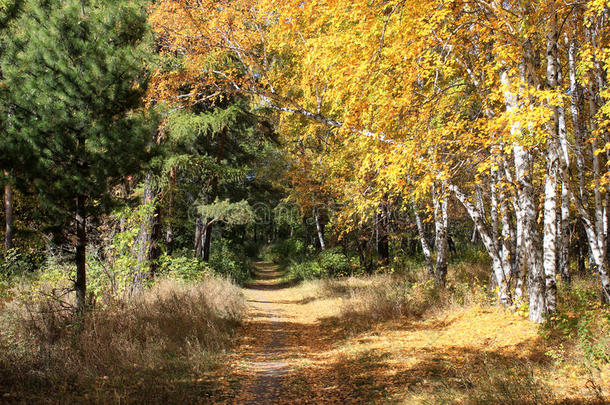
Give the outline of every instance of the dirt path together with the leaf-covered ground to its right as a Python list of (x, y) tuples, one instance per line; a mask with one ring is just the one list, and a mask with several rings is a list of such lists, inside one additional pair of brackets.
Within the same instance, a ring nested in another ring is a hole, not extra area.
[(226, 370), (238, 388), (225, 402), (583, 404), (610, 392), (609, 369), (553, 365), (537, 326), (519, 314), (473, 305), (357, 324), (341, 310), (346, 290), (256, 268)]

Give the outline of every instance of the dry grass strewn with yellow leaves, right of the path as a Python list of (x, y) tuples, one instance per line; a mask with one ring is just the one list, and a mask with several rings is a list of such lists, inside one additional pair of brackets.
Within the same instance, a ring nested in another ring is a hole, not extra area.
[[(554, 328), (574, 333), (555, 331), (548, 339), (522, 312), (494, 305), (494, 293), (478, 281), (485, 280), (483, 270), (454, 266), (446, 291), (417, 274), (301, 284), (295, 293), (303, 298), (295, 302), (307, 307), (301, 312), (317, 313), (320, 331), (332, 336), (312, 346), (335, 343), (303, 362), (291, 399), (306, 391), (320, 402), (334, 396), (346, 403), (607, 403), (610, 364), (591, 366), (582, 353), (603, 352), (608, 342), (595, 294), (579, 293), (595, 285), (575, 280), (570, 290), (560, 289), (563, 323)], [(590, 323), (583, 323), (585, 314)]]

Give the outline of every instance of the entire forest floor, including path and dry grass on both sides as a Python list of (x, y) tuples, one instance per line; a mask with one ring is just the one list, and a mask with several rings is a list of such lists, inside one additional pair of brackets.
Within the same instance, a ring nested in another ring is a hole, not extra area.
[[(48, 327), (63, 325), (56, 311), (36, 323), (11, 303), (0, 317), (0, 404), (610, 403), (610, 361), (583, 356), (607, 348), (549, 336), (467, 287), (388, 274), (297, 283), (259, 262), (243, 288), (165, 280), (59, 335)], [(16, 340), (15, 319), (38, 340)]]

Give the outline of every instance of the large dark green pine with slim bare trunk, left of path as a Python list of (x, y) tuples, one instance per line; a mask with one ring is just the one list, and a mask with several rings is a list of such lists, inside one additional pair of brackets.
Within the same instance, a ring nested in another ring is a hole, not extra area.
[[(150, 42), (145, 8), (121, 0), (31, 0), (2, 60), (12, 156), (75, 248), (76, 307), (86, 303), (87, 222), (116, 202), (111, 190), (139, 170), (154, 128), (143, 95)], [(72, 229), (72, 232), (66, 232)], [(75, 237), (74, 237), (75, 236)]]

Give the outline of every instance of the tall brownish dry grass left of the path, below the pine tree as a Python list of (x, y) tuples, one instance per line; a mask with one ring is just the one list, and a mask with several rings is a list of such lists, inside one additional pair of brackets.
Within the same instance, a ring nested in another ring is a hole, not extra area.
[(162, 403), (214, 389), (245, 301), (227, 280), (163, 280), (74, 318), (48, 296), (15, 299), (0, 322), (0, 395), (15, 402)]

